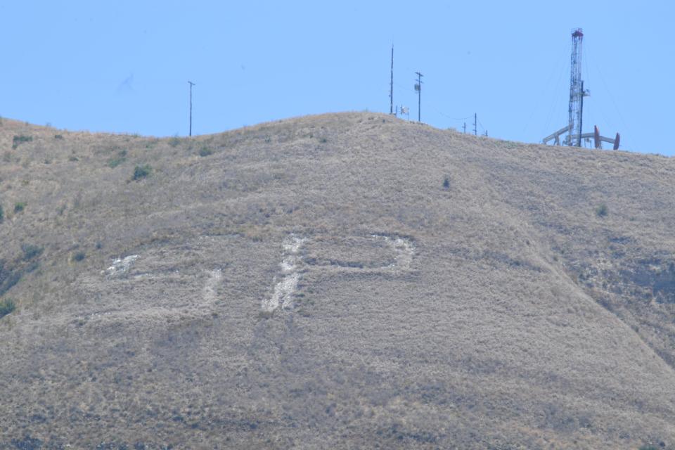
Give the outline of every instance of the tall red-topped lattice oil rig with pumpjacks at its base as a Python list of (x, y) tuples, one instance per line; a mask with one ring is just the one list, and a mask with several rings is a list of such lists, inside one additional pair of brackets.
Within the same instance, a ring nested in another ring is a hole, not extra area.
[(581, 43), (584, 40), (584, 32), (581, 28), (572, 30), (572, 58), (570, 60), (570, 122), (567, 127), (561, 128), (555, 133), (546, 136), (544, 143), (553, 141), (556, 146), (560, 145), (560, 136), (567, 133), (563, 145), (581, 147), (581, 139), (591, 139), (595, 141), (596, 148), (602, 148), (603, 141), (614, 145), (614, 149), (619, 148), (619, 133), (615, 139), (600, 136), (598, 127), (594, 127), (593, 133), (583, 133), (581, 131), (584, 124), (584, 97), (589, 96), (589, 91), (584, 90), (584, 80), (581, 79)]

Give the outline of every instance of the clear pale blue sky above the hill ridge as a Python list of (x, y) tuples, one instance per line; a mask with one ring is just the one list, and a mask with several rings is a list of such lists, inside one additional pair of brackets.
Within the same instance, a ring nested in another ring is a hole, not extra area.
[[(0, 115), (172, 136), (345, 110), (537, 142), (567, 124), (584, 29), (584, 131), (675, 153), (671, 1), (5, 1)], [(473, 117), (466, 120), (468, 129)]]

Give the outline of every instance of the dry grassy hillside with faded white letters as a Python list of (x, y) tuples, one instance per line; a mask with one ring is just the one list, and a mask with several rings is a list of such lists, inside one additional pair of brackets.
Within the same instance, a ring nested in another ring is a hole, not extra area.
[(343, 113), (0, 160), (0, 449), (675, 449), (669, 158)]

